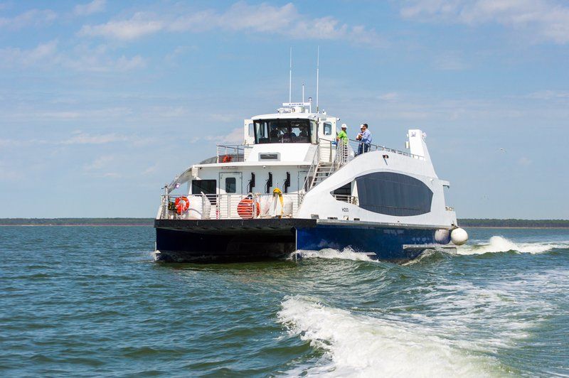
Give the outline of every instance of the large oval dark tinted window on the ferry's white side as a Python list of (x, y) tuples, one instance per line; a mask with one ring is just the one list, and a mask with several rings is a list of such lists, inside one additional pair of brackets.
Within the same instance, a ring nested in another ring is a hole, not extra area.
[(356, 178), (358, 202), (363, 209), (400, 217), (430, 212), (432, 191), (422, 181), (392, 172)]

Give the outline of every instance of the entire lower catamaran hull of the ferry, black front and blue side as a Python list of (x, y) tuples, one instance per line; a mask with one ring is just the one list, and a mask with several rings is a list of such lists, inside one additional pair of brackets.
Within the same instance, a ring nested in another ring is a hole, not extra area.
[[(353, 223), (353, 222), (351, 222)], [(295, 251), (351, 249), (373, 259), (403, 262), (437, 243), (437, 228), (346, 225), (306, 219), (156, 220), (156, 259), (169, 262), (260, 261)]]

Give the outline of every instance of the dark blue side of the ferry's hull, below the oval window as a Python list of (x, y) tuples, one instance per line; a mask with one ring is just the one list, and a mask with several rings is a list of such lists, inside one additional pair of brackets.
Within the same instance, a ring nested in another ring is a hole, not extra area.
[(318, 251), (324, 248), (350, 248), (379, 260), (408, 261), (423, 251), (410, 247), (413, 244), (437, 244), (435, 231), (436, 229), (406, 227), (317, 225), (297, 229), (297, 249)]

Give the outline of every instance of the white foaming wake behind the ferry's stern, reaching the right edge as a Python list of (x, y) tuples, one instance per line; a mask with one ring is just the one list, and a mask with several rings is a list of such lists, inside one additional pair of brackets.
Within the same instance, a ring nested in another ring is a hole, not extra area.
[(464, 245), (457, 248), (457, 254), (486, 254), (494, 252), (519, 252), (528, 254), (541, 254), (555, 248), (568, 248), (569, 242), (561, 243), (514, 243), (505, 237), (493, 236), (488, 243)]

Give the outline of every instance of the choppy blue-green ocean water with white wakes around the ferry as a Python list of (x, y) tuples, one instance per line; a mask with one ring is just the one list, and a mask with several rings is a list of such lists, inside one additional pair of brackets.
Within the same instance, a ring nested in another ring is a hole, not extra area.
[(405, 265), (158, 264), (152, 227), (0, 227), (0, 375), (569, 375), (569, 230)]

